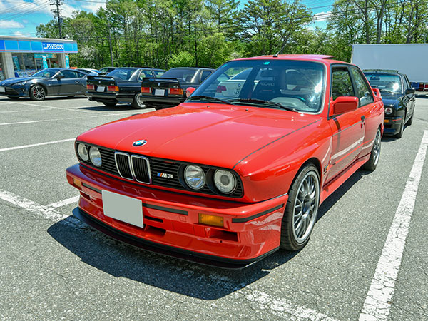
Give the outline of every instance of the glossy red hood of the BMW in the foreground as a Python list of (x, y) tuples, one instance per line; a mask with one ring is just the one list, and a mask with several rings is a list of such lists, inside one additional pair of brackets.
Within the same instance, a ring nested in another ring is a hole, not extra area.
[[(146, 156), (233, 168), (320, 116), (270, 108), (183, 103), (96, 127), (78, 141)], [(146, 140), (144, 146), (133, 142)]]

